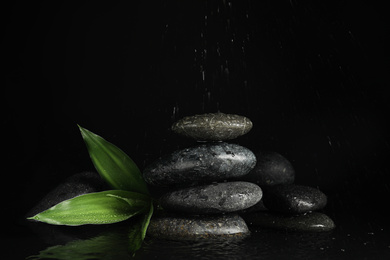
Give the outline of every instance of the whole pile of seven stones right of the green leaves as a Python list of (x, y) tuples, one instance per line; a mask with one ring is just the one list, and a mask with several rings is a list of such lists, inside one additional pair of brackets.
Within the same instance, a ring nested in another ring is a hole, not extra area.
[(295, 185), (295, 171), (286, 158), (276, 152), (255, 155), (225, 142), (251, 128), (248, 118), (223, 113), (185, 117), (173, 124), (174, 132), (203, 143), (145, 168), (148, 184), (168, 189), (159, 199), (168, 215), (152, 218), (149, 235), (243, 237), (249, 233), (246, 223), (296, 231), (334, 228), (329, 217), (313, 212), (325, 207), (326, 195)]

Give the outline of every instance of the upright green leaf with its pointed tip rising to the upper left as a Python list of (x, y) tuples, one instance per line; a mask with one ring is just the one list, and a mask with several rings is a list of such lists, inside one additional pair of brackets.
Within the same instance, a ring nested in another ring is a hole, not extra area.
[(149, 195), (140, 170), (126, 153), (91, 131), (79, 128), (96, 170), (111, 187)]

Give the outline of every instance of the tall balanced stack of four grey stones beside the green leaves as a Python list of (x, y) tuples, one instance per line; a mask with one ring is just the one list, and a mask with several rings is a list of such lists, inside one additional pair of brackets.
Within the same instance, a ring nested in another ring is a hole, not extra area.
[(159, 199), (169, 215), (154, 217), (149, 235), (193, 239), (249, 234), (237, 212), (259, 203), (262, 190), (239, 179), (255, 167), (256, 156), (224, 141), (251, 128), (248, 118), (223, 113), (185, 117), (173, 124), (174, 132), (204, 143), (175, 151), (144, 169), (148, 184), (169, 189)]

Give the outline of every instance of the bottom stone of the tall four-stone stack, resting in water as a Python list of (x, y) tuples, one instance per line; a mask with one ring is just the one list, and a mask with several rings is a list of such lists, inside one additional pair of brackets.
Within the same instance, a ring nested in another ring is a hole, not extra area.
[(153, 217), (147, 234), (170, 240), (243, 238), (249, 235), (245, 221), (238, 215), (202, 217)]

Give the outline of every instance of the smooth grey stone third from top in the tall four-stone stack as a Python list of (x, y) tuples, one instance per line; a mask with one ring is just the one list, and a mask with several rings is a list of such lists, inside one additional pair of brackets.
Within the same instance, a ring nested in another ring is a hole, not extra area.
[(225, 182), (172, 191), (160, 198), (169, 211), (189, 214), (234, 212), (249, 208), (261, 200), (259, 186), (250, 182)]

